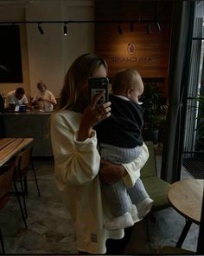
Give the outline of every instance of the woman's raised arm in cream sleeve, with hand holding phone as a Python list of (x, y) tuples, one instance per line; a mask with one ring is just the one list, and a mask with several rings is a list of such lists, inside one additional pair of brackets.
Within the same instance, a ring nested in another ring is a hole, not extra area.
[(67, 111), (51, 118), (55, 175), (61, 186), (67, 182), (84, 185), (99, 173), (100, 156), (92, 127), (111, 115), (110, 105), (111, 102), (106, 102), (97, 107), (93, 102), (83, 115)]

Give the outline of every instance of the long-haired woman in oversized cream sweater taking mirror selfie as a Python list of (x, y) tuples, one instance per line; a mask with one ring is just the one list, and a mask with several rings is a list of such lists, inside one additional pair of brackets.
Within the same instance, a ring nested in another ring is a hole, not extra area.
[(103, 59), (93, 54), (78, 57), (67, 71), (59, 107), (51, 118), (55, 179), (73, 220), (79, 253), (124, 253), (131, 231), (124, 235), (123, 229), (105, 230), (111, 213), (101, 194), (99, 175), (107, 184), (123, 178), (133, 186), (149, 156), (143, 144), (137, 161), (125, 165), (100, 161), (92, 128), (111, 115), (111, 102), (97, 106), (101, 94), (89, 103), (87, 79), (106, 75)]

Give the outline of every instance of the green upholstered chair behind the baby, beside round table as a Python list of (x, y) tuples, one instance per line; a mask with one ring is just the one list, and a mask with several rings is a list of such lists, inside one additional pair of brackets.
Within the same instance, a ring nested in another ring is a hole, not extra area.
[(152, 141), (145, 141), (145, 144), (149, 150), (149, 159), (141, 169), (141, 180), (146, 188), (150, 198), (154, 200), (152, 211), (147, 215), (147, 235), (150, 241), (148, 219), (153, 217), (151, 213), (162, 210), (169, 207), (169, 200), (167, 198), (167, 191), (169, 188), (169, 182), (163, 181), (157, 176), (156, 171), (156, 154), (155, 148)]

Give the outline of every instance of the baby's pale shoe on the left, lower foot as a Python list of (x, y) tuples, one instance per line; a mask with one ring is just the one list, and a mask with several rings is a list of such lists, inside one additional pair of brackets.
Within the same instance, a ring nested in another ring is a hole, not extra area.
[(116, 230), (133, 225), (134, 221), (131, 218), (131, 213), (128, 212), (118, 217), (112, 216), (110, 220), (105, 222), (105, 228), (108, 230)]

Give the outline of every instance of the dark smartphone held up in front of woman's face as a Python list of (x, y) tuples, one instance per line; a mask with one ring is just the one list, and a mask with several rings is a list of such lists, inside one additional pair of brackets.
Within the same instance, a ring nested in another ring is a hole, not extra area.
[(98, 104), (104, 104), (105, 102), (108, 102), (108, 84), (109, 80), (107, 77), (90, 77), (88, 79), (89, 102), (92, 102), (94, 97), (99, 95), (102, 91), (105, 92), (105, 95), (100, 98)]

